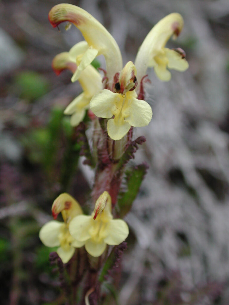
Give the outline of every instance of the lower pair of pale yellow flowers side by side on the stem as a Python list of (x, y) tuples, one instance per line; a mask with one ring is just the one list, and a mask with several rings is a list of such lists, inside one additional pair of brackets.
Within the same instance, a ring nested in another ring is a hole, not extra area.
[(59, 246), (57, 254), (67, 263), (75, 248), (85, 245), (93, 257), (100, 256), (106, 245), (119, 245), (129, 234), (128, 225), (122, 219), (113, 219), (111, 196), (103, 192), (95, 204), (91, 216), (83, 215), (78, 202), (67, 193), (53, 202), (52, 213), (56, 219), (62, 213), (64, 222), (49, 221), (40, 230), (39, 237), (47, 247)]

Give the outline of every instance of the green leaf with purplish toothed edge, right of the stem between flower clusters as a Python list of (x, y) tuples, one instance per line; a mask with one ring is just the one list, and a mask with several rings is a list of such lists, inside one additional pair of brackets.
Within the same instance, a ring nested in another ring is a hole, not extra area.
[(127, 191), (123, 192), (121, 197), (118, 199), (118, 207), (120, 209), (121, 218), (124, 217), (125, 214), (131, 209), (147, 169), (147, 163), (142, 163), (125, 172)]

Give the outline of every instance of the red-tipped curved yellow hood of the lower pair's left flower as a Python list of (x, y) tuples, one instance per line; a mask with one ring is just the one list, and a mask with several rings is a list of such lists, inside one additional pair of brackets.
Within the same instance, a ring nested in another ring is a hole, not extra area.
[(53, 218), (61, 212), (65, 223), (71, 221), (76, 215), (82, 214), (82, 209), (79, 203), (69, 194), (62, 193), (58, 196), (52, 205)]

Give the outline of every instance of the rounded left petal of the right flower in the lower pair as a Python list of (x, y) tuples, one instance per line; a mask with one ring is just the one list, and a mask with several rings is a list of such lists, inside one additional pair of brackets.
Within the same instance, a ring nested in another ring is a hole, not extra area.
[(80, 242), (89, 239), (91, 237), (89, 229), (91, 228), (92, 221), (91, 216), (79, 215), (75, 217), (69, 224), (71, 236)]

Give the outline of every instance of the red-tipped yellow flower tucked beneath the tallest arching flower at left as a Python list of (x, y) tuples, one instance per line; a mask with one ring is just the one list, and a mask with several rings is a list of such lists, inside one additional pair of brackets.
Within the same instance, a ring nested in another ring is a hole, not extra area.
[[(56, 55), (53, 59), (53, 70), (59, 74), (64, 69), (69, 69), (75, 73), (79, 69), (80, 58), (85, 49), (88, 48), (86, 41), (81, 41), (74, 45), (69, 52), (63, 52)], [(74, 76), (75, 74), (73, 74)], [(77, 96), (64, 110), (64, 114), (71, 115), (70, 123), (77, 126), (84, 118), (85, 112), (89, 109), (91, 98), (102, 90), (102, 78), (99, 72), (89, 64), (78, 78), (83, 89), (83, 93)]]

